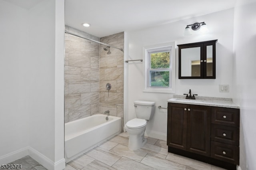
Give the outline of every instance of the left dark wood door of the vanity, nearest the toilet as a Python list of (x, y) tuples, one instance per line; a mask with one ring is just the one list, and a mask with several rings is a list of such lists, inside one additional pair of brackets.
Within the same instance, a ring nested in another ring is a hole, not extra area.
[(167, 145), (186, 150), (187, 105), (168, 103)]

